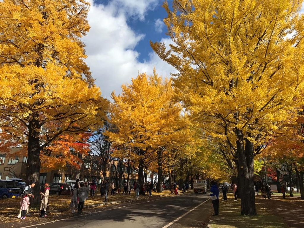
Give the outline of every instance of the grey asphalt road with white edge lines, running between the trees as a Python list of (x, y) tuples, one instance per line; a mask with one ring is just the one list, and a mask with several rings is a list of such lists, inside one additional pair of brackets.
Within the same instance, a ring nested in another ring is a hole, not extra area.
[(99, 212), (61, 219), (43, 228), (189, 228), (206, 227), (212, 214), (209, 195), (186, 194), (138, 200), (107, 207)]

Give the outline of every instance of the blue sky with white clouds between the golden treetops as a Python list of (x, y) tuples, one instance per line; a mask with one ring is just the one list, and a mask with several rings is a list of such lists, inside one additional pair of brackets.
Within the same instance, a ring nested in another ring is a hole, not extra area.
[(110, 99), (112, 91), (119, 94), (122, 84), (130, 83), (138, 73), (151, 74), (153, 67), (163, 77), (176, 72), (149, 44), (150, 40), (172, 43), (165, 34), (164, 0), (89, 1), (91, 29), (82, 38), (88, 56), (85, 61), (104, 97)]

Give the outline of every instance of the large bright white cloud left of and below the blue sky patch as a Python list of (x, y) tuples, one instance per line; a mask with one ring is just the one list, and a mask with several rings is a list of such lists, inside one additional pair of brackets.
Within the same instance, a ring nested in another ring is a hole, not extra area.
[[(114, 9), (113, 2), (118, 4), (138, 2), (136, 9), (130, 9), (129, 13)], [(150, 3), (149, 3), (150, 2)], [(140, 63), (140, 53), (134, 50), (137, 43), (143, 39), (143, 34), (136, 34), (126, 20), (130, 16), (143, 17), (148, 7), (153, 7), (155, 0), (113, 0), (108, 5), (93, 4), (88, 13), (88, 21), (91, 26), (87, 36), (82, 38), (86, 44), (86, 62), (91, 68), (92, 76), (96, 79), (96, 85), (100, 87), (103, 96), (110, 98), (111, 92), (121, 92), (123, 83), (130, 83), (138, 72), (152, 73), (153, 67), (159, 75), (170, 76), (175, 71), (173, 67), (161, 60), (156, 54), (150, 53), (150, 60)], [(148, 4), (149, 3), (149, 4)], [(130, 12), (132, 12), (130, 14)], [(164, 42), (170, 39), (162, 40)], [(147, 43), (149, 45), (149, 43)]]

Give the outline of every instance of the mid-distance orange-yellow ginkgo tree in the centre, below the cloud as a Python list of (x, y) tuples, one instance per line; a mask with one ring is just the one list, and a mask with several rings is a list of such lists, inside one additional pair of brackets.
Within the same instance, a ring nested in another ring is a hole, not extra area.
[(122, 94), (112, 93), (110, 122), (116, 132), (108, 132), (113, 146), (132, 157), (140, 185), (144, 170), (157, 170), (157, 153), (184, 141), (187, 122), (181, 117), (181, 105), (172, 101), (175, 95), (171, 80), (154, 73), (139, 74), (132, 83), (122, 85)]

